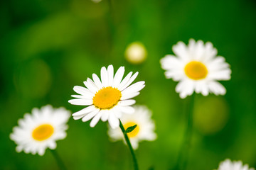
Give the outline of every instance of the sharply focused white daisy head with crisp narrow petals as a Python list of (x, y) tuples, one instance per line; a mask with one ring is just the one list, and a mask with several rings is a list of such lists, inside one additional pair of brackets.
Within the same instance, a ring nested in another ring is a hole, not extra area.
[[(119, 126), (119, 118), (122, 113), (132, 114), (134, 108), (132, 105), (135, 103), (134, 98), (139, 95), (139, 91), (144, 88), (145, 81), (139, 81), (132, 84), (132, 81), (139, 74), (136, 72), (132, 75), (129, 72), (124, 76), (124, 67), (119, 67), (117, 73), (114, 75), (114, 68), (112, 65), (102, 67), (101, 81), (96, 74), (92, 74), (92, 79), (87, 78), (84, 84), (87, 88), (82, 86), (74, 86), (74, 91), (80, 95), (72, 95), (75, 99), (68, 101), (73, 105), (87, 106), (81, 111), (73, 113), (73, 118), (78, 120), (82, 118), (83, 122), (90, 119), (90, 127), (95, 127), (98, 121), (107, 121), (112, 128)], [(131, 86), (129, 86), (132, 84)]]

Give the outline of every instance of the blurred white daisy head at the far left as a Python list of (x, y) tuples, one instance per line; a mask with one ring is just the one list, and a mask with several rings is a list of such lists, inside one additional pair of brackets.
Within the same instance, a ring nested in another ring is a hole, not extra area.
[(56, 140), (63, 140), (68, 129), (66, 124), (70, 118), (70, 111), (65, 108), (43, 106), (41, 110), (33, 108), (32, 114), (26, 113), (23, 119), (18, 120), (10, 135), (11, 140), (17, 144), (16, 151), (22, 150), (28, 154), (43, 156), (46, 149), (56, 148)]

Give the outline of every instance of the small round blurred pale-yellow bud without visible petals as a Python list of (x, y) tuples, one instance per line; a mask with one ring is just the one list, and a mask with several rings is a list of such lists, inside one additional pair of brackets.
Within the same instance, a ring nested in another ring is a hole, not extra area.
[(142, 42), (132, 42), (127, 46), (124, 56), (128, 62), (132, 64), (140, 64), (146, 60), (146, 48)]

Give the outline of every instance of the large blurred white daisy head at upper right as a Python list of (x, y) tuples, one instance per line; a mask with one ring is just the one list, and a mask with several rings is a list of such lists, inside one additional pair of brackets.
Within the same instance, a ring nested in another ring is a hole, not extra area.
[(230, 79), (230, 65), (225, 58), (217, 55), (211, 42), (203, 44), (202, 40), (189, 40), (188, 46), (178, 42), (173, 46), (174, 55), (166, 55), (161, 59), (161, 67), (166, 70), (166, 79), (179, 81), (176, 92), (186, 98), (196, 91), (203, 96), (209, 93), (224, 95), (225, 87), (220, 80)]

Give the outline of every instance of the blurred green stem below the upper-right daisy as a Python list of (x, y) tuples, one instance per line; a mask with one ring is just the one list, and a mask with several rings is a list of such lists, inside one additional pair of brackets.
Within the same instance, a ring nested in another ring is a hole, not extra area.
[(193, 94), (190, 98), (187, 107), (187, 129), (185, 133), (185, 137), (183, 140), (183, 144), (181, 146), (181, 151), (178, 155), (178, 162), (176, 164), (175, 169), (185, 170), (188, 164), (188, 155), (189, 149), (191, 148), (191, 139), (193, 133), (193, 106), (194, 106), (195, 94)]

